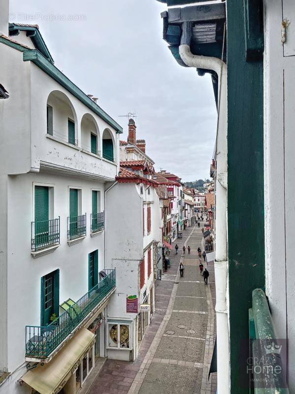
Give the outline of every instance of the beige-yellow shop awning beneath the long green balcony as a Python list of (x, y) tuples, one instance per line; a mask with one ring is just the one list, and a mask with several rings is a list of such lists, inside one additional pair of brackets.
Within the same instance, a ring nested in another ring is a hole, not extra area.
[(81, 328), (50, 362), (28, 371), (22, 380), (40, 394), (55, 394), (94, 338), (95, 334), (87, 328)]

